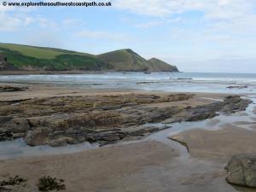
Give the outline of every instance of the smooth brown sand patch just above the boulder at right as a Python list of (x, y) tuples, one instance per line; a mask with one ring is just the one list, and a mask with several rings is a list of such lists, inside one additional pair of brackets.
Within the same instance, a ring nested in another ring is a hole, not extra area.
[(217, 131), (183, 131), (172, 138), (187, 143), (190, 155), (202, 160), (225, 163), (233, 154), (256, 153), (256, 131), (235, 125), (224, 125)]

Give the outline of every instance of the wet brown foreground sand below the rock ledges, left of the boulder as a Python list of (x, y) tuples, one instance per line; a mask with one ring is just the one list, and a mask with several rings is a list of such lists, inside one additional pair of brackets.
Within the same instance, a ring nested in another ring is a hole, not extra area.
[[(43, 175), (65, 179), (64, 191), (236, 191), (225, 183), (222, 165), (183, 159), (162, 143), (143, 142), (97, 148), (77, 154), (0, 162), (0, 177), (19, 174), (33, 190)], [(20, 189), (19, 189), (20, 191)]]

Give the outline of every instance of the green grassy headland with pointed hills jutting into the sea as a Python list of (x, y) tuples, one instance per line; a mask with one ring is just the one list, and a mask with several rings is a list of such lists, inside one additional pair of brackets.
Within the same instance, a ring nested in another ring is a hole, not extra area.
[(144, 59), (131, 49), (91, 55), (66, 49), (0, 44), (0, 71), (178, 72), (159, 59)]

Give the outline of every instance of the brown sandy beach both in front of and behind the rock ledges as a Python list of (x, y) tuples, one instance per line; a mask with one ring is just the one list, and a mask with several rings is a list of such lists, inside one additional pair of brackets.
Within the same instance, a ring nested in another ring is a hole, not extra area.
[[(66, 96), (73, 98), (73, 96), (153, 94), (163, 97), (173, 94), (140, 90), (86, 90), (44, 84), (8, 85), (27, 86), (28, 90), (0, 93), (2, 102), (55, 99), (60, 96), (61, 98)], [(228, 94), (193, 93), (188, 100), (153, 102), (143, 104), (143, 106), (148, 108), (173, 108), (175, 106), (198, 108), (198, 106), (223, 101), (226, 96)], [(187, 111), (178, 113), (177, 118), (185, 117), (187, 113)], [(219, 119), (207, 119), (207, 126), (214, 127), (220, 121)], [(253, 125), (242, 121), (236, 123)], [(172, 128), (170, 130), (172, 131)], [(12, 188), (12, 191), (16, 192), (38, 191), (36, 187), (38, 178), (45, 175), (63, 178), (67, 186), (67, 189), (63, 191), (69, 192), (255, 191), (232, 187), (225, 182), (226, 171), (224, 171), (224, 166), (232, 154), (255, 153), (254, 131), (239, 128), (239, 125), (224, 125), (218, 130), (209, 131), (196, 129), (195, 123), (195, 129), (174, 133), (175, 131), (170, 137), (187, 143), (189, 153), (183, 145), (168, 139), (168, 135), (160, 139), (147, 135), (135, 141), (132, 139), (133, 142), (129, 139), (125, 143), (85, 149), (79, 153), (43, 156), (35, 154), (35, 156), (1, 160), (0, 180), (15, 175), (26, 178), (26, 186)], [(154, 134), (157, 135), (158, 132)]]

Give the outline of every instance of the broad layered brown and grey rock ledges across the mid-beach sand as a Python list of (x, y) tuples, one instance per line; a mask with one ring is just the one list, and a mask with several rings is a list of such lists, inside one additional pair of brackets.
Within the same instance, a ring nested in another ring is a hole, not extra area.
[(250, 103), (240, 96), (195, 108), (169, 105), (190, 94), (154, 96), (66, 96), (0, 102), (0, 141), (25, 138), (28, 145), (62, 146), (76, 143), (108, 144), (144, 137), (167, 126), (147, 123), (195, 121), (244, 110)]

